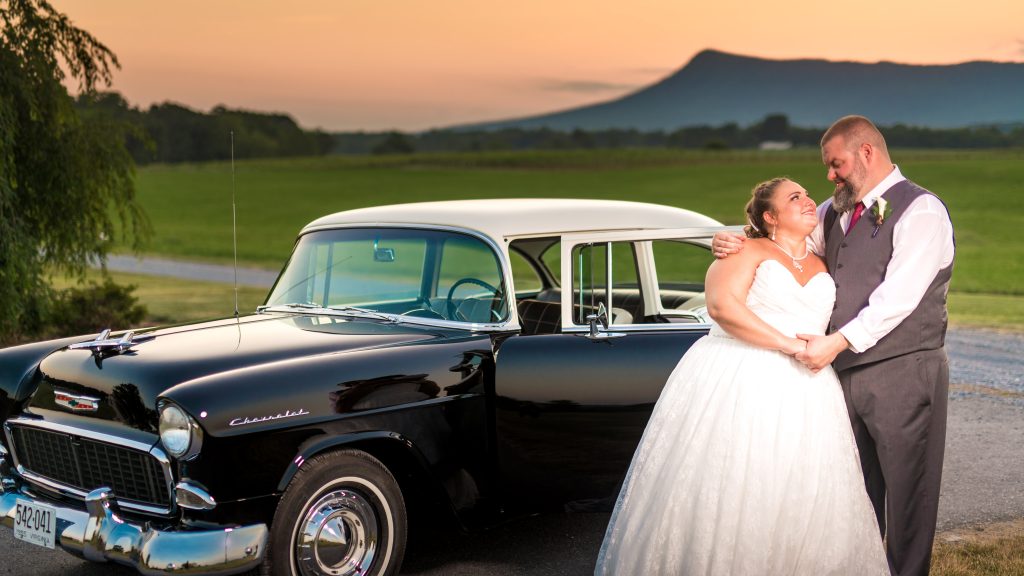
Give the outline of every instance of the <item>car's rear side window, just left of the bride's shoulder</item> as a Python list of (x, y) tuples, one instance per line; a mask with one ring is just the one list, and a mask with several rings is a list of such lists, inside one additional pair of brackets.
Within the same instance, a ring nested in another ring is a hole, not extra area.
[(711, 251), (681, 240), (654, 240), (651, 252), (666, 316), (671, 319), (673, 316), (706, 315), (705, 276), (708, 266), (715, 261)]

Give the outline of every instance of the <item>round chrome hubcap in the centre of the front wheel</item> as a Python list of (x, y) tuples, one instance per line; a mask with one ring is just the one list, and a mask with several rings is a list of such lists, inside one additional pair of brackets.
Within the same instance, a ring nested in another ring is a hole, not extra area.
[(374, 507), (354, 490), (335, 490), (316, 500), (299, 525), (295, 558), (303, 576), (369, 573), (380, 542)]

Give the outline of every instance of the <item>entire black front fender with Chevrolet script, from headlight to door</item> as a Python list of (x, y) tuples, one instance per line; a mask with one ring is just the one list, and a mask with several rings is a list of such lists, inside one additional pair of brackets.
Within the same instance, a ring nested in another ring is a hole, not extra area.
[[(181, 476), (219, 501), (281, 493), (303, 461), (342, 446), (364, 450), (417, 487), (485, 491), (486, 336), (438, 338), (230, 370), (167, 389), (163, 398), (204, 429)], [(244, 471), (245, 474), (236, 474)], [(476, 488), (479, 487), (479, 488)], [(457, 501), (456, 498), (450, 498)], [(461, 500), (460, 500), (461, 501)]]

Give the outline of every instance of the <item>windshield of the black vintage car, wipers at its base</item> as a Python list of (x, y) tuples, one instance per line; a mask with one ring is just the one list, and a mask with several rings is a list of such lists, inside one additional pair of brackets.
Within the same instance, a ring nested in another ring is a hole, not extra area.
[(415, 229), (304, 235), (264, 308), (492, 324), (508, 318), (502, 266), (478, 238)]

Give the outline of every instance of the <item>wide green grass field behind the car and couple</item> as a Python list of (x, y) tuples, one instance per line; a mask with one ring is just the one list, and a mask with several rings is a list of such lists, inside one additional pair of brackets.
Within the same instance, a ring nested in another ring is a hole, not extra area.
[[(1024, 239), (1017, 234), (1024, 212), (1024, 151), (894, 151), (893, 158), (905, 175), (949, 206), (957, 239), (952, 302), (970, 307), (963, 318), (970, 318), (970, 324), (1024, 325), (1017, 298), (959, 297), (1024, 295)], [(512, 197), (634, 200), (742, 223), (751, 188), (775, 175), (797, 179), (818, 202), (831, 194), (816, 150), (570, 151), (239, 162), (239, 258), (245, 264), (278, 269), (296, 233), (313, 218), (401, 202)], [(228, 164), (145, 167), (138, 171), (137, 182), (154, 228), (146, 253), (230, 262)]]

